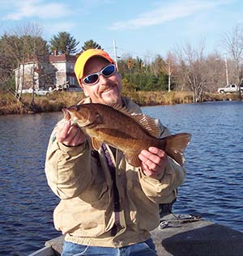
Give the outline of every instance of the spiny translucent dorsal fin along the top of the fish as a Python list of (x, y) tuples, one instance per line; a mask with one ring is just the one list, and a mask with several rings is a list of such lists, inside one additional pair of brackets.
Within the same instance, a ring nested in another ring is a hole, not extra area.
[(132, 113), (130, 112), (130, 110), (126, 109), (126, 107), (122, 107), (122, 105), (113, 104), (109, 106), (133, 118), (136, 122), (138, 122), (141, 126), (143, 126), (143, 128), (151, 136), (156, 138), (160, 137), (161, 130), (156, 125), (155, 119), (153, 119), (152, 117), (149, 117), (143, 113)]

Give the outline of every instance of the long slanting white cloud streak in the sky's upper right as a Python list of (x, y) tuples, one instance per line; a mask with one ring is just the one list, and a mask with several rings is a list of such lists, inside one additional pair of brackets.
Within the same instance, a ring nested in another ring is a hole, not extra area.
[(121, 29), (134, 29), (143, 28), (151, 25), (161, 24), (175, 19), (180, 19), (190, 15), (194, 15), (199, 11), (207, 11), (215, 6), (220, 6), (223, 4), (228, 4), (228, 0), (219, 1), (177, 1), (164, 5), (164, 3), (157, 4), (156, 9), (152, 11), (144, 12), (138, 15), (135, 19), (130, 19), (127, 21), (119, 21), (113, 23), (111, 26), (112, 30)]

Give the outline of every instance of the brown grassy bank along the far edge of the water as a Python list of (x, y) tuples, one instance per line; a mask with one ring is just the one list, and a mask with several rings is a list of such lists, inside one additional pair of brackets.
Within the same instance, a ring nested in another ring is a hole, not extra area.
[[(192, 92), (126, 92), (140, 106), (175, 105), (193, 103)], [(61, 111), (62, 108), (77, 104), (84, 98), (83, 92), (53, 92), (49, 96), (22, 95), (22, 103), (10, 92), (0, 92), (0, 115)], [(206, 93), (205, 101), (237, 100), (237, 94)]]

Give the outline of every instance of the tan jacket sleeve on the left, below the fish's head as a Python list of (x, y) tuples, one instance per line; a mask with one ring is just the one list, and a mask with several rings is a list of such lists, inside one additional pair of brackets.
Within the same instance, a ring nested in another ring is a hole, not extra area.
[(58, 143), (55, 134), (54, 128), (45, 160), (47, 181), (59, 198), (74, 198), (92, 183), (89, 143), (66, 147)]

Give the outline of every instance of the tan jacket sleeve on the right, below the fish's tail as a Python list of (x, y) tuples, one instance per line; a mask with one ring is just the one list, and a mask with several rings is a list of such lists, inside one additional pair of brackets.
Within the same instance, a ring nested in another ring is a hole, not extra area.
[[(169, 130), (162, 126), (160, 121), (156, 120), (160, 126), (160, 138), (170, 135)], [(139, 169), (139, 181), (143, 192), (154, 203), (171, 203), (177, 198), (177, 188), (185, 181), (185, 168), (177, 164), (175, 160), (168, 156), (168, 163), (164, 173), (159, 177), (147, 177), (142, 169)]]

